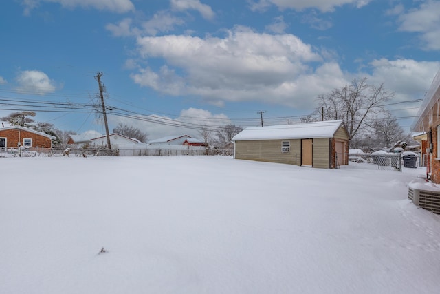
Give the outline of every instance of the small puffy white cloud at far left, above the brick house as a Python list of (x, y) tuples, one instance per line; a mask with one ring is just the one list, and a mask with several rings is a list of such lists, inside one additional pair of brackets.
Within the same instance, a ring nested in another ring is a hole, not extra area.
[(56, 84), (47, 74), (38, 70), (24, 70), (16, 78), (20, 92), (32, 92), (39, 95), (54, 92)]

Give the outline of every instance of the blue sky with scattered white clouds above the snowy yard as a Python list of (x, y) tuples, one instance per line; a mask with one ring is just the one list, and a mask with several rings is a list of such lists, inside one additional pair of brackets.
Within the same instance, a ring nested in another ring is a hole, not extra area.
[(256, 126), (260, 111), (265, 125), (296, 122), (318, 94), (367, 77), (395, 92), (388, 108), (408, 130), (440, 69), (439, 11), (430, 0), (1, 1), (0, 116), (34, 105), (38, 121), (103, 134), (91, 111), (102, 72), (110, 129), (153, 140)]

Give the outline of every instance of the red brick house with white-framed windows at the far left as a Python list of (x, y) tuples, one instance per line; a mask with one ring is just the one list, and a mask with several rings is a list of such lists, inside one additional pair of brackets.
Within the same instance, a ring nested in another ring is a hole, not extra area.
[(26, 148), (52, 148), (52, 140), (56, 137), (48, 134), (13, 125), (0, 128), (0, 151), (24, 146)]

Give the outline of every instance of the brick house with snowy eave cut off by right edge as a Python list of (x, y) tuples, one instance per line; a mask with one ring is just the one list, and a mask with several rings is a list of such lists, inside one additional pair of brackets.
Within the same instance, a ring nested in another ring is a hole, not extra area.
[(422, 132), (421, 153), (426, 158), (428, 178), (440, 184), (440, 70), (437, 72), (420, 106), (412, 131)]

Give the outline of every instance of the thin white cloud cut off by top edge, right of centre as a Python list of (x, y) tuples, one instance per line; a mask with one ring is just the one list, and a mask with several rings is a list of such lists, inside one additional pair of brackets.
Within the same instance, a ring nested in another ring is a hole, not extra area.
[(332, 12), (338, 6), (352, 4), (357, 8), (366, 6), (371, 0), (259, 0), (250, 1), (252, 10), (265, 10), (270, 5), (277, 6), (279, 9), (304, 10), (316, 8), (321, 12)]

